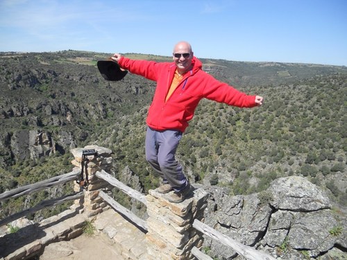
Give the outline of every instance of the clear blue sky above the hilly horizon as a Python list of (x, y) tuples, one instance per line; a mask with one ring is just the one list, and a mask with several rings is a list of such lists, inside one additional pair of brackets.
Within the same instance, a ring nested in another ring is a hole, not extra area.
[(171, 55), (347, 66), (346, 0), (0, 0), (0, 51)]

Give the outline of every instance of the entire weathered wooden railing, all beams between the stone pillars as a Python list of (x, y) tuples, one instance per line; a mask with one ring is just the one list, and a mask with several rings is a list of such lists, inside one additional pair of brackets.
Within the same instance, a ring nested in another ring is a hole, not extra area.
[[(64, 175), (52, 177), (49, 180), (44, 180), (42, 182), (37, 182), (35, 184), (26, 185), (24, 187), (19, 187), (17, 189), (13, 189), (11, 191), (6, 191), (4, 193), (0, 194), (0, 201), (6, 200), (10, 198), (18, 198), (19, 196), (24, 196), (29, 193), (33, 193), (35, 191), (40, 191), (42, 189), (48, 189), (50, 187), (56, 186), (58, 184), (64, 184), (66, 182), (69, 182), (71, 180), (77, 180), (78, 176), (80, 175), (79, 171), (72, 171), (71, 173), (66, 173)], [(134, 189), (131, 189), (130, 187), (126, 186), (122, 182), (119, 182), (115, 177), (112, 177), (110, 174), (106, 173), (105, 171), (97, 171), (96, 177), (99, 177), (102, 180), (105, 180), (109, 184), (111, 184), (113, 187), (117, 187), (124, 193), (126, 193), (131, 198), (135, 198), (139, 202), (142, 202), (144, 205), (147, 204), (146, 196), (144, 194), (139, 193), (139, 191), (135, 191)], [(26, 216), (28, 214), (32, 214), (40, 209), (43, 209), (45, 207), (51, 207), (54, 205), (59, 205), (63, 202), (66, 202), (68, 200), (76, 200), (78, 198), (83, 198), (84, 194), (83, 191), (78, 193), (73, 193), (67, 196), (63, 196), (61, 198), (56, 198), (52, 200), (43, 200), (40, 202), (40, 204), (36, 205), (35, 207), (32, 207), (31, 209), (26, 209), (24, 211), (21, 211), (19, 213), (13, 214), (12, 216), (8, 216), (7, 218), (0, 220), (0, 226), (6, 225), (13, 220), (16, 220), (18, 218), (21, 218), (23, 216)], [(148, 227), (146, 225), (146, 221), (142, 220), (133, 212), (129, 211), (122, 205), (120, 205), (118, 202), (113, 200), (110, 196), (108, 196), (103, 191), (99, 191), (99, 196), (105, 200), (105, 202), (108, 202), (108, 205), (110, 205), (115, 211), (119, 212), (123, 216), (126, 216), (129, 220), (131, 220), (135, 225), (138, 227), (141, 227), (144, 230), (148, 230)], [(217, 240), (219, 243), (222, 243), (223, 245), (227, 245), (233, 250), (235, 250), (238, 254), (241, 254), (242, 256), (246, 257), (246, 259), (251, 260), (274, 260), (275, 258), (255, 250), (254, 248), (251, 248), (247, 245), (243, 245), (242, 243), (239, 243), (230, 237), (221, 234), (220, 232), (217, 232), (217, 230), (213, 229), (212, 227), (209, 227), (208, 225), (205, 225), (204, 223), (201, 223), (199, 220), (194, 220), (194, 223), (192, 226), (197, 229), (198, 231), (202, 232), (206, 236), (209, 236), (212, 239)], [(194, 247), (192, 249), (192, 254), (199, 259), (199, 260), (212, 260), (211, 257), (204, 254), (198, 248)]]

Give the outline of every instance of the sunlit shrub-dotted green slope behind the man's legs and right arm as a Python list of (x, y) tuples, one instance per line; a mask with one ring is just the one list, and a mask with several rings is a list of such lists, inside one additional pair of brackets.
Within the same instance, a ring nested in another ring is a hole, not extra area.
[[(303, 175), (346, 204), (346, 85), (341, 75), (317, 76), (295, 84), (242, 87), (265, 96), (262, 107), (240, 109), (203, 101), (178, 149), (191, 180), (230, 188), (230, 193), (262, 191), (277, 177)], [(155, 187), (144, 164), (146, 107), (111, 123), (97, 144), (115, 151), (125, 166)]]

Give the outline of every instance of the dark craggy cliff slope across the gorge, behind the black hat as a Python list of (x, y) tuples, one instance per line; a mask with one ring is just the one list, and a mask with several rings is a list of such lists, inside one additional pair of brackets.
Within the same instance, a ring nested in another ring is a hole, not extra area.
[[(128, 112), (126, 106), (142, 107), (139, 101), (149, 99), (149, 88), (142, 85), (148, 83), (131, 75), (117, 85), (106, 83), (96, 68), (96, 60), (106, 56), (0, 53), (0, 166), (65, 154), (101, 124)], [(39, 134), (49, 143), (35, 141)]]

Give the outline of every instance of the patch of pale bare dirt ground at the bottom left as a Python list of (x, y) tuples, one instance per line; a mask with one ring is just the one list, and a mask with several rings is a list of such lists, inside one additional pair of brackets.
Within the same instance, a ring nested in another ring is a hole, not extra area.
[(40, 260), (96, 260), (117, 259), (124, 257), (117, 251), (117, 244), (103, 232), (95, 233), (93, 236), (85, 234), (70, 241), (51, 243), (44, 249)]

